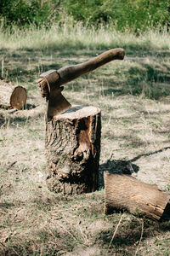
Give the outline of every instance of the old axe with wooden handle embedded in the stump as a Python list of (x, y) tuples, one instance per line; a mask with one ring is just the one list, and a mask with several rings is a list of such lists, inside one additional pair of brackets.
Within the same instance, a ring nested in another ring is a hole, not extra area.
[(110, 61), (123, 60), (124, 55), (124, 49), (122, 48), (110, 49), (90, 61), (42, 73), (37, 81), (37, 86), (41, 90), (42, 97), (46, 97), (48, 102), (48, 120), (71, 108), (71, 104), (61, 93), (64, 89), (64, 86), (61, 86), (62, 84), (77, 79), (83, 74), (89, 73)]

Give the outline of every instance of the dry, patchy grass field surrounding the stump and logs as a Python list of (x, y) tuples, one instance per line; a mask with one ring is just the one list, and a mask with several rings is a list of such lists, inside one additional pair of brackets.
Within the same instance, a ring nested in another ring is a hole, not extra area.
[[(168, 40), (167, 33), (135, 38), (81, 26), (0, 35), (1, 73), (28, 91), (26, 109), (0, 111), (1, 255), (168, 255), (170, 222), (128, 212), (105, 216), (102, 187), (105, 170), (133, 168), (140, 180), (169, 190)], [(99, 191), (55, 195), (45, 183), (46, 102), (36, 79), (43, 71), (87, 61), (111, 47), (125, 48), (125, 60), (112, 61), (64, 90), (72, 104), (102, 110)]]

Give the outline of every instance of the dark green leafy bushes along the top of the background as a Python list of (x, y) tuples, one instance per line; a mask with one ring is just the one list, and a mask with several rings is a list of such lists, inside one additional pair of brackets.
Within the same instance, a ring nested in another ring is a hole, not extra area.
[(148, 28), (170, 26), (169, 0), (1, 0), (3, 27), (50, 27), (62, 24), (65, 16), (83, 26), (113, 26), (118, 31), (143, 32)]

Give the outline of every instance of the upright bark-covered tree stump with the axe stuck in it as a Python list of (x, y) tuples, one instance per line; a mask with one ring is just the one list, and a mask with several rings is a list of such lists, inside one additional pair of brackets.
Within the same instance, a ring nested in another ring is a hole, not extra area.
[(76, 195), (97, 189), (100, 109), (75, 106), (46, 121), (48, 189)]

